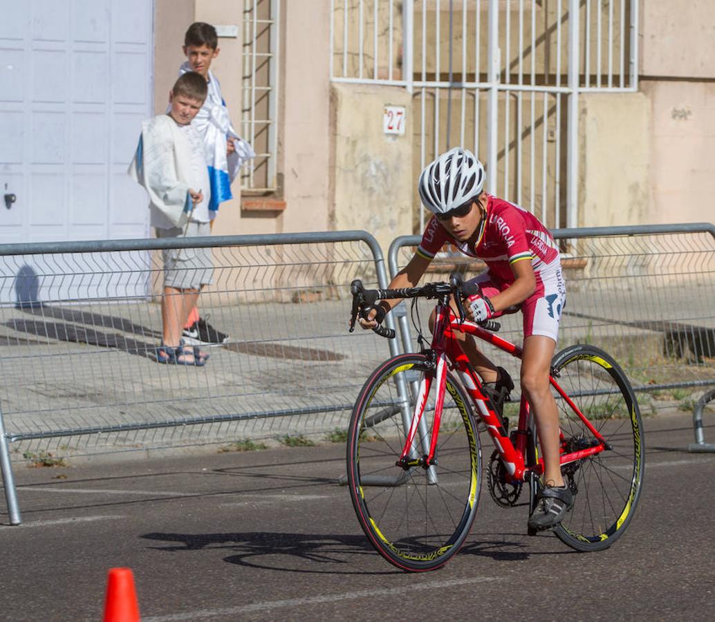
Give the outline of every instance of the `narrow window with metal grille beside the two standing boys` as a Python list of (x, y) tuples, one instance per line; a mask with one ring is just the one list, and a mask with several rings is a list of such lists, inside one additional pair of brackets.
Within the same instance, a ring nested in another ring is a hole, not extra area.
[(279, 15), (280, 0), (244, 0), (242, 132), (256, 152), (242, 175), (247, 194), (279, 190)]

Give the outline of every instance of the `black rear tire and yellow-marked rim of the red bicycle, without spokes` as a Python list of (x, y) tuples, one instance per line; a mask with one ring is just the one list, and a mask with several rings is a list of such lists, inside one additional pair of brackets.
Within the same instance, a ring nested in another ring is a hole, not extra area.
[[(618, 388), (621, 390), (621, 395), (626, 401), (626, 405), (628, 406), (630, 413), (630, 429), (631, 434), (633, 435), (634, 451), (631, 488), (629, 490), (626, 504), (623, 507), (623, 511), (621, 515), (618, 516), (615, 523), (608, 525), (608, 528), (603, 530), (600, 534), (586, 535), (568, 528), (567, 515), (567, 518), (564, 519), (563, 523), (554, 529), (556, 536), (567, 546), (570, 546), (576, 551), (591, 552), (602, 551), (603, 549), (612, 546), (613, 543), (615, 543), (616, 540), (623, 535), (633, 519), (633, 515), (635, 514), (638, 506), (638, 500), (641, 496), (641, 490), (643, 488), (645, 473), (645, 439), (636, 393), (633, 391), (633, 387), (631, 387), (631, 383), (628, 381), (628, 377), (625, 372), (623, 372), (620, 365), (613, 360), (611, 355), (608, 355), (607, 352), (604, 352), (600, 348), (593, 345), (577, 344), (558, 352), (558, 354), (556, 354), (553, 358), (552, 367), (558, 374), (569, 363), (583, 359), (588, 359), (596, 362), (598, 365), (601, 365), (602, 369), (610, 375), (613, 381), (616, 382)], [(607, 452), (603, 452), (599, 455), (605, 456), (607, 455)], [(578, 495), (576, 495), (576, 503), (578, 503)]]

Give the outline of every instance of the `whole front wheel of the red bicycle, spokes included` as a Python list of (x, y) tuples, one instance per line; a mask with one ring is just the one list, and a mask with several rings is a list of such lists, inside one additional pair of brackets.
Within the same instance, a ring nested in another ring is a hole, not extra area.
[[(473, 523), (481, 484), (470, 398), (451, 374), (437, 464), (429, 470), (395, 464), (413, 415), (413, 389), (425, 373), (433, 373), (425, 355), (400, 355), (380, 365), (360, 391), (347, 438), (347, 482), (360, 526), (381, 556), (406, 571), (433, 570), (459, 550)], [(412, 458), (428, 450), (437, 384), (430, 389)]]

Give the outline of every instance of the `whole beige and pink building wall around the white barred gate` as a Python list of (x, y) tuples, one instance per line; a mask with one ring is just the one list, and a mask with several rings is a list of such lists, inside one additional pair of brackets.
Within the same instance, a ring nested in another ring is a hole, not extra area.
[[(356, 4), (355, 0), (350, 0), (350, 6), (352, 4)], [(215, 60), (214, 69), (221, 79), (234, 124), (241, 132), (240, 2), (156, 0), (155, 6), (157, 112), (164, 109), (166, 92), (177, 66), (183, 61), (180, 48), (186, 26), (194, 19), (236, 24), (240, 36), (238, 39), (220, 39), (221, 53)], [(336, 6), (340, 10), (342, 4)], [(396, 6), (399, 7), (399, 3)], [(421, 4), (415, 6), (421, 11)], [(432, 24), (435, 3), (428, 1), (426, 6), (428, 24)], [(538, 21), (546, 20), (550, 24), (555, 16), (551, 9), (548, 9), (551, 12), (543, 13), (544, 6), (526, 2), (526, 14), (530, 18), (531, 11), (536, 11)], [(711, 36), (715, 32), (715, 11), (711, 9), (711, 0), (694, 0), (687, 11), (674, 11), (669, 0), (641, 0), (638, 92), (580, 95), (581, 226), (713, 219), (709, 202), (715, 189), (715, 161), (709, 154), (715, 139), (715, 83), (712, 82), (715, 77), (712, 60), (715, 58), (715, 37)], [(367, 11), (366, 15), (365, 29), (369, 30), (372, 11)], [(442, 11), (442, 17), (445, 15)], [(483, 44), (486, 42), (485, 16), (483, 11), (480, 24)], [(419, 36), (421, 27), (421, 15), (419, 17), (415, 19), (418, 30), (415, 36)], [(395, 20), (400, 21), (398, 9), (395, 10)], [(512, 21), (516, 24), (516, 14), (512, 14)], [(441, 43), (445, 46), (448, 21), (441, 19), (440, 22)], [(529, 22), (527, 19), (526, 23)], [(342, 20), (336, 23), (340, 25)], [(501, 29), (504, 23), (502, 12)], [(285, 210), (242, 210), (240, 184), (235, 182), (233, 190), (237, 198), (222, 206), (215, 232), (250, 234), (365, 228), (376, 232), (381, 241), (411, 233), (412, 224), (410, 219), (403, 217), (403, 211), (409, 211), (411, 205), (414, 217), (418, 207), (414, 182), (419, 137), (413, 124), (415, 114), (419, 112), (415, 104), (418, 100), (399, 87), (331, 86), (329, 0), (284, 0), (280, 26), (280, 191), (275, 197), (267, 198), (285, 200)], [(474, 31), (475, 24), (470, 24), (470, 38)], [(334, 34), (336, 41), (342, 41), (339, 27)], [(565, 39), (566, 29), (562, 34)], [(460, 36), (460, 24), (457, 24), (455, 37), (459, 39)], [(377, 72), (384, 78), (389, 71), (388, 41), (380, 31), (380, 54), (376, 61), (370, 48), (372, 36), (368, 39), (370, 44), (365, 48), (363, 58), (364, 75), (373, 77)], [(400, 78), (400, 46), (399, 41), (394, 43), (393, 77)], [(357, 49), (355, 44), (356, 41), (349, 40), (351, 54), (347, 62), (350, 66), (357, 66), (358, 62), (357, 54), (353, 53)], [(433, 41), (430, 40), (430, 44), (433, 45)], [(459, 44), (460, 40), (455, 40), (457, 47)], [(554, 45), (552, 39), (538, 41), (537, 71), (543, 71), (546, 66), (546, 49), (551, 66), (556, 57)], [(592, 45), (595, 45), (595, 39)], [(442, 51), (445, 59), (446, 51)], [(483, 72), (486, 49), (481, 51), (480, 69)], [(470, 58), (468, 56), (468, 63), (472, 62)], [(427, 60), (428, 73), (434, 72), (430, 59)], [(334, 56), (333, 61), (342, 62), (342, 56)], [(455, 62), (459, 65), (459, 55)], [(509, 59), (508, 62), (513, 65), (515, 61)], [(530, 64), (530, 59), (526, 58), (525, 63)], [(415, 59), (415, 70), (419, 71), (420, 66), (421, 59)], [(455, 66), (455, 71), (461, 69), (461, 66)], [(466, 69), (468, 74), (475, 74), (473, 64)], [(395, 142), (389, 142), (380, 127), (380, 111), (390, 102), (403, 102), (408, 109), (408, 133)], [(444, 106), (441, 108), (445, 109)], [(565, 117), (563, 114), (562, 122)], [(482, 143), (487, 134), (485, 119), (478, 122)], [(549, 124), (551, 126), (551, 119)], [(542, 126), (546, 127), (546, 124), (533, 129), (537, 140), (541, 139)], [(562, 131), (565, 132), (565, 127)], [(470, 144), (467, 146), (471, 147)], [(475, 147), (482, 150), (483, 145)], [(539, 170), (541, 160), (535, 164)], [(565, 167), (563, 162), (560, 165)], [(549, 162), (547, 167), (549, 203), (557, 198), (552, 192), (555, 167), (556, 162)], [(389, 182), (380, 181), (381, 171), (389, 172)], [(540, 187), (541, 183), (537, 183), (536, 204), (541, 204), (543, 199)], [(524, 193), (522, 200), (526, 203), (531, 200), (531, 194), (527, 189)], [(382, 197), (381, 204), (375, 201), (378, 196)], [(516, 196), (510, 198), (516, 199)], [(565, 196), (563, 199), (565, 201)], [(397, 206), (398, 216), (393, 221), (385, 220), (385, 204)], [(553, 223), (547, 224), (553, 226)], [(385, 241), (383, 246), (386, 247)]]

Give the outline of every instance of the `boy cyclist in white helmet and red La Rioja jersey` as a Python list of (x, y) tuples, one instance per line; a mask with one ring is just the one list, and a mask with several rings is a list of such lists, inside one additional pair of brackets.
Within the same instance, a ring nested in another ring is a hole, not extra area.
[[(531, 212), (484, 192), (484, 179), (483, 165), (465, 149), (451, 149), (425, 167), (418, 188), (433, 217), (417, 252), (388, 287), (415, 287), (435, 254), (448, 242), (487, 265), (487, 270), (472, 280), (480, 285), (481, 295), (468, 300), (469, 320), (481, 322), (515, 305), (521, 308), (521, 388), (536, 418), (544, 460), (542, 486), (529, 527), (548, 529), (560, 523), (573, 506), (573, 494), (561, 474), (558, 409), (548, 380), (566, 285), (558, 247), (546, 227)], [(360, 325), (375, 327), (399, 302), (380, 300)], [(434, 315), (430, 329), (433, 322)], [(513, 388), (506, 370), (485, 357), (473, 337), (460, 332), (455, 332), (455, 337), (485, 387), (497, 393)]]

